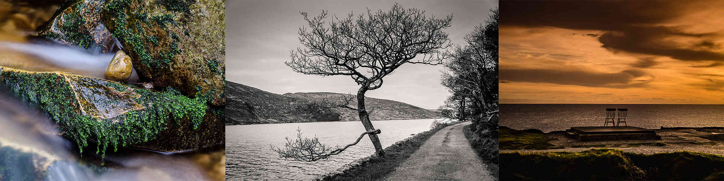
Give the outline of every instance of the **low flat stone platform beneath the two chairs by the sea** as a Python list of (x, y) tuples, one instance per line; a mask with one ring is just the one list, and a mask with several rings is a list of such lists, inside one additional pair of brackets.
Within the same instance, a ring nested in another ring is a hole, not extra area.
[(656, 135), (654, 130), (632, 126), (593, 126), (593, 127), (571, 127), (565, 130), (568, 138), (575, 138), (581, 141), (587, 140), (660, 140), (661, 136)]

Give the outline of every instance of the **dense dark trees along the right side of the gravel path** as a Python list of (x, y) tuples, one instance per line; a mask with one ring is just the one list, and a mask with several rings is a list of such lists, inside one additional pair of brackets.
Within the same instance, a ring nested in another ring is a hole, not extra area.
[(498, 11), (491, 12), (484, 25), (466, 35), (464, 46), (455, 47), (451, 61), (444, 64), (441, 81), (452, 93), (447, 101), (459, 103), (452, 106), (459, 119), (470, 117), (477, 132), (497, 127)]

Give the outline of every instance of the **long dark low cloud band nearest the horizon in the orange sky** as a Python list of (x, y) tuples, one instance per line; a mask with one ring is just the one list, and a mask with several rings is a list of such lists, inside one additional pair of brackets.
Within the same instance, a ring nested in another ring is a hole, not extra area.
[(581, 85), (587, 87), (630, 88), (646, 85), (650, 81), (636, 82), (633, 79), (646, 73), (639, 70), (624, 70), (617, 73), (586, 72), (581, 70), (536, 70), (502, 69), (501, 80), (527, 83), (555, 83), (560, 85)]

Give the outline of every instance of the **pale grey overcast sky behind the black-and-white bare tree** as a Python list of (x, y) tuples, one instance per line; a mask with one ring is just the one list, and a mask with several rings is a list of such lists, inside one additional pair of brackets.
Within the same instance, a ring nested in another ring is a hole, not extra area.
[[(427, 16), (438, 18), (452, 14), (449, 33), (452, 43), (464, 43), (463, 37), (484, 22), (489, 9), (497, 1), (397, 1), (405, 9), (426, 10)], [(345, 17), (387, 11), (395, 1), (237, 1), (226, 4), (226, 78), (271, 93), (332, 92), (357, 93), (352, 78), (344, 75), (321, 77), (292, 71), (284, 62), (290, 50), (302, 46), (298, 28), (306, 25), (299, 12), (315, 17), (321, 10)], [(439, 84), (442, 65), (405, 64), (384, 78), (382, 88), (370, 90), (366, 96), (401, 101), (425, 109), (437, 109), (450, 94)]]

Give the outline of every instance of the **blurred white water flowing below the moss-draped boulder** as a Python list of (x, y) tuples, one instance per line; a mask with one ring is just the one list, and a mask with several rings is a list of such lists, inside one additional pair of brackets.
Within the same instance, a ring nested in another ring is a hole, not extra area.
[[(33, 164), (38, 170), (46, 168), (48, 181), (209, 180), (206, 172), (190, 156), (154, 152), (116, 155), (109, 151), (111, 153), (106, 153), (106, 161), (113, 161), (121, 167), (98, 174), (92, 166), (80, 160), (75, 152), (75, 143), (60, 136), (54, 123), (43, 112), (19, 101), (8, 91), (0, 88), (0, 146), (35, 155)], [(12, 165), (19, 163), (7, 164), (13, 169)]]

